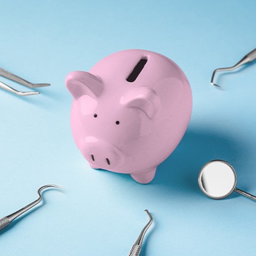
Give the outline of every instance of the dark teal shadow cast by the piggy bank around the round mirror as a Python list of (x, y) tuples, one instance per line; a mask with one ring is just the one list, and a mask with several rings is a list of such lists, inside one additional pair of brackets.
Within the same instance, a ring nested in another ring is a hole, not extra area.
[[(223, 159), (230, 164), (246, 164), (248, 147), (239, 138), (220, 134), (213, 129), (189, 129), (175, 152), (159, 165), (152, 184), (161, 184), (181, 193), (201, 193), (198, 173), (212, 159)], [(160, 187), (160, 186), (159, 186)], [(202, 194), (203, 195), (203, 194)], [(236, 196), (232, 193), (228, 198)]]

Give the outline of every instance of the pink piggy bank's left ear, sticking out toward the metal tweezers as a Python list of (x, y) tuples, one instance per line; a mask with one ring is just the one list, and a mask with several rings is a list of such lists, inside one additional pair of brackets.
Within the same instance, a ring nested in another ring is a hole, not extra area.
[(66, 86), (74, 99), (83, 95), (89, 95), (95, 99), (103, 89), (103, 84), (98, 77), (83, 71), (70, 72), (66, 77)]

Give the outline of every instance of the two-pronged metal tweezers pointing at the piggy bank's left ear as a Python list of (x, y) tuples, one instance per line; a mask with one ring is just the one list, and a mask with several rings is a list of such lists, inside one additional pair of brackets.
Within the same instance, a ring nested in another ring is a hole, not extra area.
[[(30, 82), (26, 81), (25, 79), (23, 79), (19, 76), (16, 76), (15, 74), (12, 74), (11, 72), (8, 72), (8, 71), (4, 70), (3, 68), (0, 68), (0, 76), (3, 76), (7, 79), (15, 81), (16, 83), (23, 84), (24, 86), (27, 86), (27, 87), (32, 88), (32, 89), (51, 85), (51, 84), (33, 84), (33, 83), (30, 83)], [(15, 93), (16, 95), (19, 95), (19, 96), (36, 95), (36, 94), (40, 93), (40, 92), (20, 92), (18, 90), (15, 90), (11, 86), (8, 86), (7, 84), (4, 84), (1, 81), (0, 81), (0, 88), (6, 90), (8, 92)]]

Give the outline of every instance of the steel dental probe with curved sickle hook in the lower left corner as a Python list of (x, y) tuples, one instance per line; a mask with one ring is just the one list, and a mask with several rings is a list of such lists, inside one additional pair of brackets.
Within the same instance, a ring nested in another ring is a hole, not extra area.
[(12, 214), (10, 214), (8, 216), (5, 216), (4, 218), (0, 219), (0, 230), (7, 227), (13, 220), (15, 220), (21, 214), (24, 214), (24, 212), (28, 211), (29, 209), (31, 209), (35, 205), (39, 204), (42, 201), (41, 192), (42, 192), (42, 190), (47, 189), (47, 188), (60, 188), (60, 187), (57, 186), (57, 185), (45, 185), (42, 188), (38, 189), (38, 191), (37, 191), (38, 199), (36, 199), (31, 204), (26, 205), (25, 207), (23, 207), (19, 211), (13, 212)]

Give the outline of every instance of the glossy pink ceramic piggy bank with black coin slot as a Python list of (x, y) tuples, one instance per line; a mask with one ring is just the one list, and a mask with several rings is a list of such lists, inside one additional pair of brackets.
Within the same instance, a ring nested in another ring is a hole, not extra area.
[(188, 79), (156, 52), (116, 52), (89, 72), (70, 72), (66, 85), (74, 97), (74, 141), (90, 166), (143, 184), (172, 154), (191, 117)]

